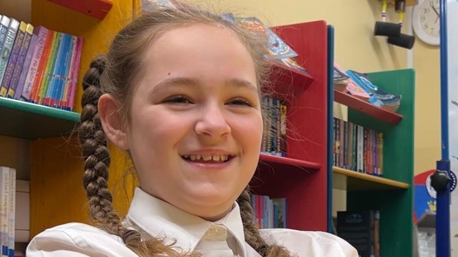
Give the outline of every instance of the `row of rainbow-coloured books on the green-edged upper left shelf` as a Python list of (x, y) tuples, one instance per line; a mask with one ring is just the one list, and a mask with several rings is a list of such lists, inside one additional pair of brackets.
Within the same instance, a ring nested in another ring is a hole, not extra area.
[(83, 38), (0, 15), (0, 97), (73, 109)]

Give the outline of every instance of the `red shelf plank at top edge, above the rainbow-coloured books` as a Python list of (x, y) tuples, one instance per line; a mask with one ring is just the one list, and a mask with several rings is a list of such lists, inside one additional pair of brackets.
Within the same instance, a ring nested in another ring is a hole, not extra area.
[(46, 0), (76, 12), (103, 20), (113, 7), (108, 0)]

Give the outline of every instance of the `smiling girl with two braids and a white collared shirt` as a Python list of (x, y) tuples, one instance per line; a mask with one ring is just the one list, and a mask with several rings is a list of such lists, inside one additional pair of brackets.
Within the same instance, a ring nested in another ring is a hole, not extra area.
[[(200, 10), (163, 9), (122, 29), (83, 80), (84, 187), (100, 226), (47, 229), (27, 257), (357, 257), (325, 232), (252, 223), (263, 40)], [(107, 189), (108, 140), (128, 152), (140, 182), (124, 219)]]

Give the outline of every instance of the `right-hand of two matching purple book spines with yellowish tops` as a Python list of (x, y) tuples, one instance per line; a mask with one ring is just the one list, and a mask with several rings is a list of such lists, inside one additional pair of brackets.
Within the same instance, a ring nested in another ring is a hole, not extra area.
[(27, 50), (29, 49), (29, 46), (30, 46), (30, 41), (32, 40), (32, 33), (33, 33), (32, 24), (27, 24), (26, 29), (25, 29), (24, 40), (19, 50), (18, 59), (16, 61), (16, 64), (13, 70), (13, 76), (11, 77), (10, 85), (8, 87), (7, 97), (9, 98), (14, 98), (16, 95), (19, 77), (21, 76), (21, 71), (24, 66), (24, 62), (25, 62), (26, 55), (27, 55)]

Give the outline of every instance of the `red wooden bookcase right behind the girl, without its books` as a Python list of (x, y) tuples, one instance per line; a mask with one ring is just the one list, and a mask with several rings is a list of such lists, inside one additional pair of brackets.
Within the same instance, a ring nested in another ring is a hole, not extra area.
[(309, 75), (276, 66), (267, 91), (287, 105), (286, 157), (260, 155), (254, 194), (286, 198), (287, 226), (327, 231), (328, 29), (324, 21), (274, 28)]

